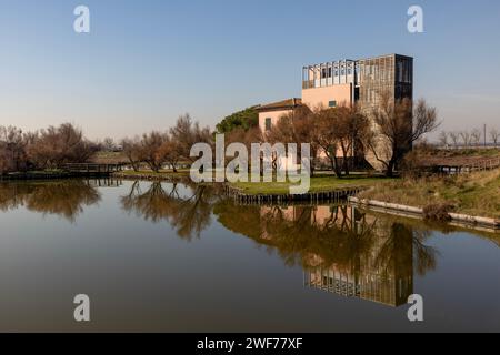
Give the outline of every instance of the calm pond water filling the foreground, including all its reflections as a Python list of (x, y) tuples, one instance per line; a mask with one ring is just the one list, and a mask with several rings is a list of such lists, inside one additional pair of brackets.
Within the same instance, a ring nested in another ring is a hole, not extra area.
[[(500, 332), (494, 233), (77, 180), (0, 184), (0, 226), (3, 332)], [(413, 293), (423, 323), (407, 318)]]

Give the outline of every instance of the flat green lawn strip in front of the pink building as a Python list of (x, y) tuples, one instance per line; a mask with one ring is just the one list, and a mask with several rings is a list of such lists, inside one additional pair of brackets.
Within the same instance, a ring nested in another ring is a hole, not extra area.
[[(319, 174), (311, 178), (310, 192), (328, 192), (347, 187), (364, 187), (372, 186), (386, 178), (352, 175), (343, 179), (336, 178), (331, 174)], [(392, 181), (392, 180), (391, 180)], [(234, 183), (234, 187), (241, 189), (247, 194), (288, 194), (290, 192), (290, 182), (270, 182), (270, 183)]]

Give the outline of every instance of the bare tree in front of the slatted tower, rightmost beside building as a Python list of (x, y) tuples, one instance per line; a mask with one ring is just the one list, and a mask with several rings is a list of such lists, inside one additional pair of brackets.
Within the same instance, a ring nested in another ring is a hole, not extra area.
[[(424, 100), (419, 100), (413, 108), (409, 99), (394, 101), (383, 94), (380, 102), (380, 108), (372, 114), (377, 130), (367, 136), (367, 148), (386, 168), (387, 176), (393, 176), (397, 164), (411, 150), (413, 142), (434, 131), (440, 123), (436, 108), (429, 106)], [(388, 149), (381, 150), (381, 145)], [(381, 151), (387, 156), (381, 156)]]

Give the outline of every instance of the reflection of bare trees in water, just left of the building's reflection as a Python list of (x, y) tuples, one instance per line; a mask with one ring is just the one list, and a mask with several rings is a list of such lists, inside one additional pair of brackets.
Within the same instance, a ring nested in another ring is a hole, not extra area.
[(182, 184), (188, 193), (179, 192), (178, 183), (148, 183), (142, 191), (139, 181), (134, 182), (129, 194), (121, 197), (124, 211), (134, 211), (146, 221), (158, 223), (168, 221), (179, 236), (190, 240), (210, 224), (216, 194), (209, 186)]

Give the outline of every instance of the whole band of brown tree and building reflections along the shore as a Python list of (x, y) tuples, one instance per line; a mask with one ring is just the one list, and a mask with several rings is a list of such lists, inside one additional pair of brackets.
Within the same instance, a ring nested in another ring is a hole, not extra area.
[[(1, 183), (0, 211), (26, 207), (73, 222), (83, 206), (101, 200), (99, 186), (120, 182)], [(234, 205), (217, 187), (189, 182), (137, 181), (123, 187), (118, 201), (123, 211), (152, 223), (167, 222), (189, 241), (214, 216), (227, 230), (278, 254), (286, 265), (301, 266), (307, 287), (399, 306), (414, 292), (414, 274), (437, 267), (438, 252), (427, 244), (430, 229), (420, 222), (348, 205)]]

